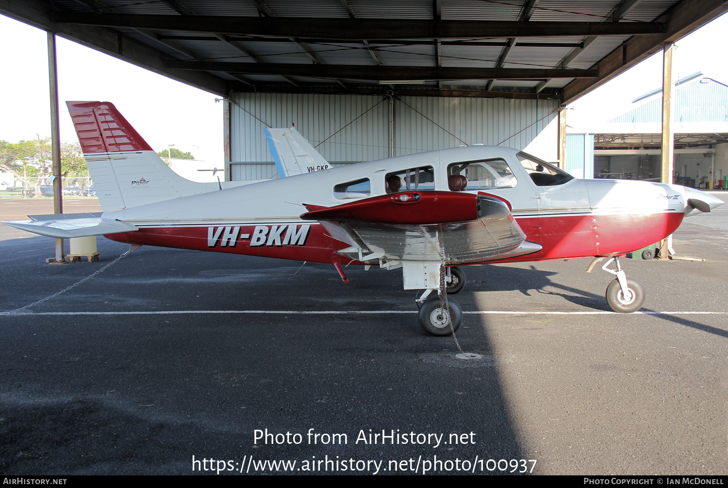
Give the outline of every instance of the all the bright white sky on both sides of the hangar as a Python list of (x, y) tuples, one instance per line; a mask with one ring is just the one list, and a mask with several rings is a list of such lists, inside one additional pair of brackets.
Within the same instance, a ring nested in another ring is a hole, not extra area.
[[(114, 103), (156, 151), (175, 144), (196, 159), (223, 163), (222, 103), (216, 95), (57, 37), (59, 101)], [(703, 71), (728, 84), (728, 15), (677, 43), (675, 76)], [(50, 136), (45, 31), (0, 15), (0, 140), (15, 143)], [(8, 67), (13, 67), (12, 70)], [(634, 107), (632, 100), (662, 84), (658, 53), (569, 105), (567, 123), (612, 119)], [(60, 113), (60, 137), (77, 141), (68, 111)]]

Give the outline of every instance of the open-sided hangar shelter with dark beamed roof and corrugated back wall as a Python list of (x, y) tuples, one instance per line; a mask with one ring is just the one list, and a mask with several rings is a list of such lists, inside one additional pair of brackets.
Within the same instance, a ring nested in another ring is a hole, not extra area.
[[(220, 95), (226, 178), (274, 177), (263, 127), (334, 164), (526, 148), (561, 107), (728, 9), (717, 0), (5, 0), (0, 13)], [(563, 166), (562, 166), (563, 167)]]

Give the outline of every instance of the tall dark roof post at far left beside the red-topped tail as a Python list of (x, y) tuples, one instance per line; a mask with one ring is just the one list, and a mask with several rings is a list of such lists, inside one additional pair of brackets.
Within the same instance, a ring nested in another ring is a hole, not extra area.
[[(48, 81), (50, 92), (50, 137), (53, 159), (53, 213), (63, 213), (63, 173), (60, 170), (60, 133), (58, 129), (58, 70), (55, 61), (55, 33), (48, 31)], [(63, 239), (55, 240), (55, 262), (63, 263)]]

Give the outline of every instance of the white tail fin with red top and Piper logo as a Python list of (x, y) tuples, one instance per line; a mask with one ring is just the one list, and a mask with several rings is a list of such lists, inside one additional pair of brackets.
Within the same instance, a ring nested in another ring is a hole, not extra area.
[(104, 212), (219, 189), (186, 180), (109, 102), (66, 102)]

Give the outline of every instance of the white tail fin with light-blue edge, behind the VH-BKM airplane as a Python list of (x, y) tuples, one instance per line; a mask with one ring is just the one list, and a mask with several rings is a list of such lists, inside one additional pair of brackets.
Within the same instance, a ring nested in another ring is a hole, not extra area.
[(331, 168), (331, 164), (323, 159), (323, 156), (295, 127), (263, 130), (278, 169), (278, 177), (302, 175)]

